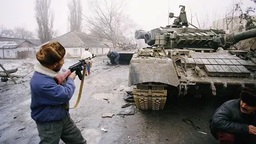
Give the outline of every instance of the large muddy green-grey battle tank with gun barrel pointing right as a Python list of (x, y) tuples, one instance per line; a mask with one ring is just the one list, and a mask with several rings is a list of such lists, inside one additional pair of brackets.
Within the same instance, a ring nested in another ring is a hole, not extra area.
[(136, 39), (149, 45), (134, 54), (129, 64), (129, 86), (139, 109), (164, 109), (167, 97), (237, 98), (240, 88), (255, 87), (255, 52), (228, 49), (255, 37), (256, 29), (230, 35), (198, 29), (189, 24), (185, 6), (180, 7), (178, 17), (169, 15), (175, 17), (172, 25), (135, 32)]

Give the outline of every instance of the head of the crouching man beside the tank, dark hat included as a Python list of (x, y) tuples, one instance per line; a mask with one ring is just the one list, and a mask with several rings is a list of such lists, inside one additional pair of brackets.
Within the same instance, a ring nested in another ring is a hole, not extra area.
[(256, 90), (252, 88), (243, 88), (240, 93), (240, 110), (242, 113), (251, 114), (256, 111)]

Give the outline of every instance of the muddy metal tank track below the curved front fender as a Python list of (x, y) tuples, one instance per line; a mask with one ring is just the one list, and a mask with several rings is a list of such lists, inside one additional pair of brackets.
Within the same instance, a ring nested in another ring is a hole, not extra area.
[(164, 109), (167, 96), (167, 85), (162, 83), (137, 84), (133, 88), (134, 101), (139, 109)]

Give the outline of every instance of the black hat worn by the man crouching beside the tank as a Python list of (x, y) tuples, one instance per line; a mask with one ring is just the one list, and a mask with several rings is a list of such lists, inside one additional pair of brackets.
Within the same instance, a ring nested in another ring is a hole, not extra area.
[(256, 106), (256, 90), (251, 88), (243, 88), (240, 93), (241, 100), (248, 106)]

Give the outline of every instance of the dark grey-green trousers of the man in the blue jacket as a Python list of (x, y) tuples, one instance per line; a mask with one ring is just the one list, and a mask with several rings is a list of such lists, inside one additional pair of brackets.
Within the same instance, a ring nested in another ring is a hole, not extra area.
[(37, 125), (40, 144), (58, 144), (60, 139), (64, 143), (86, 144), (81, 131), (76, 127), (69, 115), (51, 124)]

